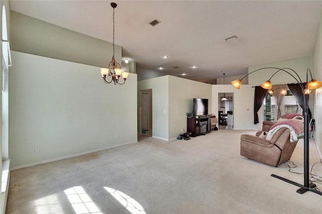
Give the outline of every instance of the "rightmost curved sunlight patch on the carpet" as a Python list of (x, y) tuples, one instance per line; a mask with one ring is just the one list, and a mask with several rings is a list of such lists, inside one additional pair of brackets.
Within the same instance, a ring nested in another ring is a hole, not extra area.
[(143, 206), (127, 194), (110, 188), (104, 187), (118, 202), (120, 202), (131, 214), (145, 214)]

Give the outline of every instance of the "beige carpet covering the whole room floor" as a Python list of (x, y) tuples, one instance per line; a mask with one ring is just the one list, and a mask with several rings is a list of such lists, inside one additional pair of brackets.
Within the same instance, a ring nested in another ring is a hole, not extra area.
[[(322, 196), (287, 164), (239, 155), (240, 135), (218, 130), (189, 141), (139, 142), (11, 172), (7, 213), (321, 213)], [(179, 134), (179, 133), (178, 133)], [(90, 142), (89, 142), (90, 143)], [(303, 172), (303, 142), (291, 160)], [(319, 160), (310, 142), (310, 167)], [(322, 164), (313, 174), (322, 175)], [(322, 184), (317, 184), (322, 189)]]

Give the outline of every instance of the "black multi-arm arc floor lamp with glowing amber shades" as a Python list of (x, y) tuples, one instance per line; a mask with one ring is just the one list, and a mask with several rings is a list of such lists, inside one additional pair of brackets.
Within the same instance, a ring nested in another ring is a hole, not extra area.
[[(306, 86), (304, 88), (301, 78), (299, 77), (299, 75), (293, 69), (291, 69), (291, 68), (266, 67), (266, 68), (260, 68), (260, 69), (257, 69), (255, 71), (252, 71), (251, 73), (245, 75), (241, 79), (231, 81), (231, 84), (235, 88), (239, 89), (240, 86), (241, 86), (241, 80), (243, 80), (246, 76), (248, 76), (248, 75), (250, 75), (250, 74), (252, 74), (252, 73), (254, 73), (256, 71), (263, 70), (263, 69), (275, 69), (276, 71), (271, 76), (271, 78), (269, 80), (266, 80), (265, 82), (263, 82), (261, 84), (262, 88), (271, 89), (272, 88), (272, 82), (271, 82), (272, 77), (276, 73), (278, 73), (279, 71), (283, 71), (283, 72), (286, 72), (289, 75), (291, 75), (297, 81), (297, 83), (299, 83), (299, 85), (301, 87), (301, 90), (303, 91), (303, 99), (304, 99), (304, 108), (303, 108), (303, 115), (304, 115), (304, 184), (302, 185), (300, 183), (296, 183), (294, 181), (288, 180), (286, 178), (280, 177), (280, 176), (275, 175), (275, 174), (271, 174), (271, 176), (300, 187), (296, 191), (296, 192), (298, 192), (300, 194), (303, 194), (306, 191), (311, 191), (311, 192), (317, 193), (319, 195), (322, 195), (321, 191), (317, 191), (316, 189), (314, 189), (314, 187), (316, 186), (314, 183), (309, 183), (309, 118), (308, 118), (308, 109), (309, 109), (309, 107), (308, 107), (308, 98), (307, 98), (307, 94), (308, 94), (307, 91), (312, 90), (312, 89), (317, 89), (317, 88), (321, 87), (322, 82), (320, 82), (320, 81), (318, 81), (316, 79), (313, 79), (310, 69), (307, 68), (307, 71), (306, 71)], [(308, 73), (310, 74), (310, 77), (311, 77), (310, 81), (307, 81)]]

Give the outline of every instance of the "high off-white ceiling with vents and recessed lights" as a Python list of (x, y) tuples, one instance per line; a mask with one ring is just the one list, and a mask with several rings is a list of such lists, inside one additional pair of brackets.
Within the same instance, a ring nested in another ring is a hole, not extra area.
[[(112, 42), (111, 2), (10, 1), (10, 5), (12, 11)], [(122, 46), (122, 60), (208, 83), (223, 73), (247, 74), (252, 65), (312, 55), (322, 5), (322, 1), (114, 2), (115, 44)], [(152, 27), (154, 19), (160, 23)], [(234, 35), (237, 39), (225, 40)]]

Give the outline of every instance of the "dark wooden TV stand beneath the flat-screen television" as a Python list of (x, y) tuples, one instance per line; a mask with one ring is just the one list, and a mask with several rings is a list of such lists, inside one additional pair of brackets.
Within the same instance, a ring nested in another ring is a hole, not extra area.
[(210, 117), (187, 118), (187, 132), (191, 133), (191, 137), (205, 135), (210, 132)]

